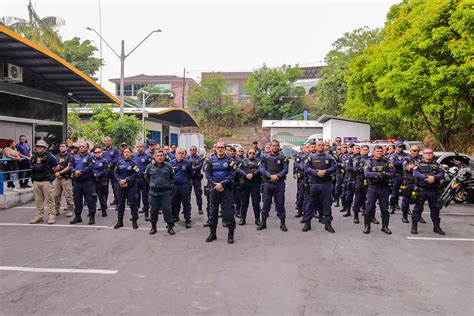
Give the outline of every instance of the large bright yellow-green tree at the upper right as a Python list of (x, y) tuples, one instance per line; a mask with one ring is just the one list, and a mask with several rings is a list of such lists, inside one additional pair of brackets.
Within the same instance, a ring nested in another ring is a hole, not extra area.
[(375, 124), (385, 116), (392, 120), (385, 131), (399, 137), (421, 125), (449, 149), (473, 114), (472, 9), (472, 1), (461, 0), (392, 6), (380, 43), (350, 65), (345, 113), (371, 113), (367, 119)]

